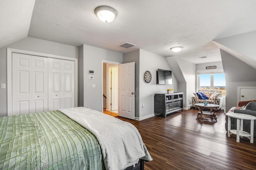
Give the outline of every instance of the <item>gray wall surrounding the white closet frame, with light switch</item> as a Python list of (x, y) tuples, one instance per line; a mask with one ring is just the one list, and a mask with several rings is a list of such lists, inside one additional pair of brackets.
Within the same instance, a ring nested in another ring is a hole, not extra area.
[[(6, 48), (78, 59), (78, 47), (26, 37), (0, 49), (0, 83), (7, 83)], [(6, 84), (7, 87), (7, 84)], [(7, 88), (0, 89), (0, 116), (7, 116)]]

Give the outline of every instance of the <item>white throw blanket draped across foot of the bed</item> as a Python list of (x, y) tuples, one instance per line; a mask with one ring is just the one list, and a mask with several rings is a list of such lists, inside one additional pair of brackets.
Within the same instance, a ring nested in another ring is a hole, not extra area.
[(131, 123), (85, 107), (59, 111), (97, 138), (107, 170), (123, 170), (145, 156), (140, 133)]

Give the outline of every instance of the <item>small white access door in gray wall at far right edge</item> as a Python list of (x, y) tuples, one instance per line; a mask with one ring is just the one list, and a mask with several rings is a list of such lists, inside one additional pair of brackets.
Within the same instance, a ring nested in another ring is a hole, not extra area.
[(256, 87), (238, 87), (238, 102), (255, 100)]

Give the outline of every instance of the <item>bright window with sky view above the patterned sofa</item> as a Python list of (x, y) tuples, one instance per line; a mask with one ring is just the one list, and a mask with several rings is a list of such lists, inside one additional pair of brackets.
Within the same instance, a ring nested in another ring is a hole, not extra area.
[(222, 69), (197, 70), (197, 90), (222, 90), (226, 96), (226, 80)]

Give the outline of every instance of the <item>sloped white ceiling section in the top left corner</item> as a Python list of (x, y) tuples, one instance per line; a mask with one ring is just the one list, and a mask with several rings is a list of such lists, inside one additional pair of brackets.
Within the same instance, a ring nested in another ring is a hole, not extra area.
[(35, 0), (1, 0), (0, 48), (28, 36)]

